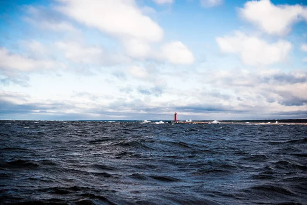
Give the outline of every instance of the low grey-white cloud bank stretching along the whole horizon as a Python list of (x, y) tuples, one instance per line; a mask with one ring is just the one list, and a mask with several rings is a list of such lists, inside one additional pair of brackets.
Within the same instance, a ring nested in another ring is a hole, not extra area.
[[(58, 94), (50, 94), (49, 99), (39, 99), (23, 93), (7, 92), (0, 95), (3, 100), (0, 110), (4, 113), (1, 117), (12, 116), (9, 113), (18, 116), (26, 113), (28, 119), (42, 119), (47, 115), (53, 119), (153, 119), (156, 115), (170, 119), (173, 111), (177, 111), (184, 120), (242, 119), (302, 117), (302, 114), (294, 113), (307, 109), (307, 72), (304, 71), (207, 70), (186, 75), (193, 79), (192, 86), (189, 85), (190, 81), (176, 85), (168, 81), (167, 86), (157, 86), (155, 84), (158, 84), (161, 75), (157, 75), (154, 69), (150, 70), (149, 66), (127, 70), (127, 78), (134, 79), (133, 85), (120, 84), (117, 87), (114, 84), (112, 87), (118, 88), (114, 89), (114, 94), (78, 90), (66, 94), (70, 97), (63, 100), (57, 97)], [(180, 77), (173, 73), (162, 76), (174, 81)], [(283, 111), (282, 115), (278, 115), (280, 110)]]

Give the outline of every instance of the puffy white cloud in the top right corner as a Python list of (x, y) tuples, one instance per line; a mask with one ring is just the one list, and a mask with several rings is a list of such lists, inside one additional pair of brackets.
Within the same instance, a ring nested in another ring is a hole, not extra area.
[(239, 14), (268, 34), (284, 35), (294, 23), (307, 21), (307, 7), (301, 5), (277, 5), (270, 0), (249, 1)]

